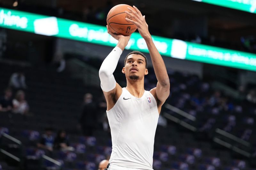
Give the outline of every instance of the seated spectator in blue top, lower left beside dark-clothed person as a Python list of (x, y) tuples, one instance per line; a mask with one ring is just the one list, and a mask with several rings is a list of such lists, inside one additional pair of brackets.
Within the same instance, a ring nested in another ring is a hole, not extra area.
[(45, 133), (42, 135), (40, 143), (37, 143), (37, 147), (53, 151), (54, 137), (52, 135), (52, 128), (46, 128)]

